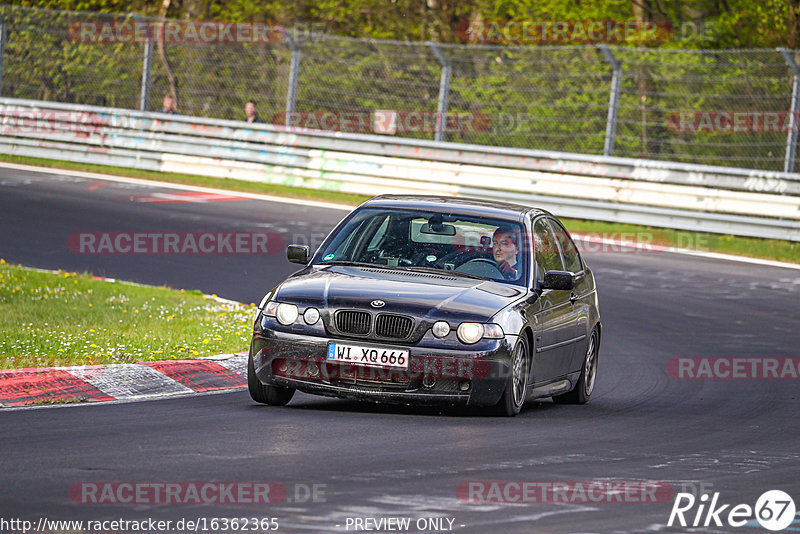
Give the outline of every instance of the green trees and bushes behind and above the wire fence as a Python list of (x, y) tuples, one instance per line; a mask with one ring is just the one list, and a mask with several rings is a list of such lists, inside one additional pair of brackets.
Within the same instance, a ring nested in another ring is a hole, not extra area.
[[(788, 110), (792, 78), (779, 53), (720, 48), (785, 45), (787, 5), (778, 0), (637, 2), (644, 10), (639, 15), (668, 24), (658, 40), (613, 46), (623, 71), (614, 155), (782, 170), (783, 132), (685, 132), (670, 125), (682, 111)], [(152, 15), (157, 3), (45, 4)], [(173, 3), (168, 14), (295, 27), (302, 50), (298, 112), (312, 117), (354, 113), (366, 120), (349, 131), (360, 132), (370, 131), (375, 110), (424, 112), (427, 126), (396, 134), (423, 139), (434, 137), (442, 67), (422, 41), (440, 41), (452, 66), (448, 111), (473, 117), (473, 124), (450, 128), (447, 141), (601, 154), (612, 73), (598, 47), (459, 41), (470, 20), (624, 22), (634, 18), (633, 6), (629, 0), (185, 0)], [(0, 5), (0, 14), (8, 26), (3, 96), (138, 107), (143, 43), (85, 43), (70, 31), (76, 22), (130, 21), (131, 15), (9, 5)], [(312, 33), (320, 31), (325, 34)], [(291, 58), (285, 41), (168, 43), (166, 55), (178, 82), (180, 113), (243, 119), (245, 102), (255, 99), (262, 119), (285, 124)], [(168, 90), (167, 72), (156, 54), (150, 110), (160, 109)], [(348, 131), (340, 120), (327, 129)]]

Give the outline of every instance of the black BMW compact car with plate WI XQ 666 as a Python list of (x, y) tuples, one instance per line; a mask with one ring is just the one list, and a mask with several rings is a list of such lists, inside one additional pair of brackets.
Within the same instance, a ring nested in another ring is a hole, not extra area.
[(345, 217), (261, 301), (248, 385), (405, 404), (583, 404), (601, 325), (594, 276), (550, 213), (499, 202), (380, 196)]

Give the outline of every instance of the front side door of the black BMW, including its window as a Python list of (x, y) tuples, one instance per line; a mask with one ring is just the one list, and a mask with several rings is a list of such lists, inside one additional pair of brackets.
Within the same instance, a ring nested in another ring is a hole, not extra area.
[[(563, 271), (561, 251), (545, 217), (533, 224), (534, 258), (538, 282), (547, 271)], [(535, 352), (533, 355), (534, 385), (551, 382), (569, 373), (575, 345), (575, 314), (570, 291), (545, 289), (534, 313)]]

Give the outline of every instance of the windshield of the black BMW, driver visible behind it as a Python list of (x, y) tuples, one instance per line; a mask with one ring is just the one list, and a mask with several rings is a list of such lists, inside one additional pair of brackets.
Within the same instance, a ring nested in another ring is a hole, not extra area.
[(364, 208), (326, 241), (316, 261), (450, 271), (524, 285), (524, 235), (522, 226), (513, 221)]

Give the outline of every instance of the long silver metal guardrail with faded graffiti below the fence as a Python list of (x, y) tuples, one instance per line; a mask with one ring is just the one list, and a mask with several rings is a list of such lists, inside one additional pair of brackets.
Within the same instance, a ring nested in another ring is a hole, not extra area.
[(800, 241), (800, 175), (0, 98), (0, 152)]

